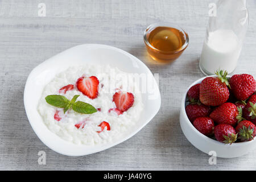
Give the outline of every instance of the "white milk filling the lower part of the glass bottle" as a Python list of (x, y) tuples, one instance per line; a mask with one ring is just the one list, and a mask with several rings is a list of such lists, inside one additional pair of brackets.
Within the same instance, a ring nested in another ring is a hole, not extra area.
[(200, 58), (200, 68), (214, 75), (218, 69), (232, 73), (237, 67), (242, 45), (232, 30), (209, 32), (208, 42), (204, 42)]

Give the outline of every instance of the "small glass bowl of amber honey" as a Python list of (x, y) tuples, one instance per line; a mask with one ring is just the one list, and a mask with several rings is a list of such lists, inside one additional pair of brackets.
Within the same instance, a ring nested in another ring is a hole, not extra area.
[(161, 63), (176, 60), (188, 47), (188, 34), (170, 23), (155, 23), (144, 32), (144, 43), (152, 59)]

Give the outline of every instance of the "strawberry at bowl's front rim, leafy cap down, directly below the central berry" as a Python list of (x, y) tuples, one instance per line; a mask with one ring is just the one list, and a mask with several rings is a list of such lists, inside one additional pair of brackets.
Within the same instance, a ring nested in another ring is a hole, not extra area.
[(220, 124), (214, 127), (214, 137), (222, 143), (232, 144), (237, 140), (236, 130), (233, 126)]

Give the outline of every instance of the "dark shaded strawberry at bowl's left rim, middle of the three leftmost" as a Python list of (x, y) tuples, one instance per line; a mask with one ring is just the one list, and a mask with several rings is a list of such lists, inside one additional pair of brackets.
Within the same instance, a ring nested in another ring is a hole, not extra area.
[(210, 107), (203, 104), (189, 104), (185, 107), (185, 110), (191, 122), (199, 117), (208, 117), (210, 114)]

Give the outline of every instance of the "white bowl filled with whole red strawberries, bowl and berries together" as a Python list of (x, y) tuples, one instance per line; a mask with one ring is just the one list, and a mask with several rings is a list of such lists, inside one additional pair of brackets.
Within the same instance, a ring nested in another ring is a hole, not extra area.
[(185, 92), (180, 126), (185, 137), (199, 150), (216, 152), (220, 158), (236, 158), (254, 150), (256, 143), (256, 81), (253, 76), (200, 78)]

